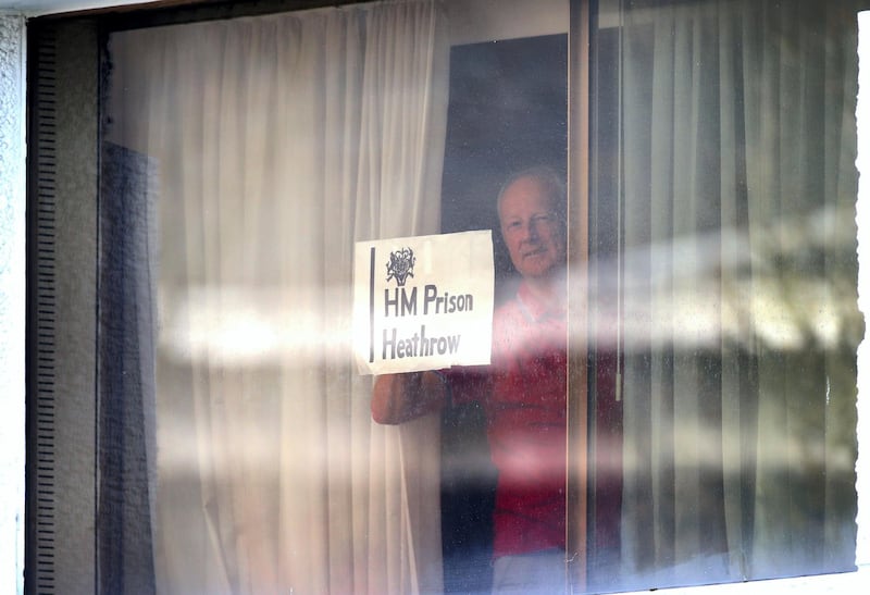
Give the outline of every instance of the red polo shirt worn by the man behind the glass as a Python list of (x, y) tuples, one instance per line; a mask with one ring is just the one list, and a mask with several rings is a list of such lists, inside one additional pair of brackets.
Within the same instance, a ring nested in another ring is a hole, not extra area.
[(566, 545), (567, 342), (564, 312), (548, 312), (523, 283), (494, 314), (486, 373), (449, 374), (453, 401), (486, 411), (496, 558)]

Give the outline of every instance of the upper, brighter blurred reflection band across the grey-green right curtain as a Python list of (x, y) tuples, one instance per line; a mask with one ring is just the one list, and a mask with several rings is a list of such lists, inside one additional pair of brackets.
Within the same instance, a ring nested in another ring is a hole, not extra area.
[[(623, 259), (624, 276), (613, 274), (596, 288), (599, 326), (623, 319), (629, 350), (645, 349), (649, 340), (687, 348), (733, 340), (749, 351), (762, 345), (795, 350), (845, 342), (857, 349), (863, 318), (857, 308), (857, 232), (850, 214), (852, 220), (843, 214), (832, 221), (824, 212), (811, 213), (771, 226), (753, 234), (754, 240), (774, 238), (761, 246), (750, 244), (745, 232), (726, 230), (634, 247)], [(830, 222), (832, 237), (808, 232), (818, 219)], [(619, 270), (614, 262), (597, 269)], [(631, 332), (638, 325), (648, 334)]]

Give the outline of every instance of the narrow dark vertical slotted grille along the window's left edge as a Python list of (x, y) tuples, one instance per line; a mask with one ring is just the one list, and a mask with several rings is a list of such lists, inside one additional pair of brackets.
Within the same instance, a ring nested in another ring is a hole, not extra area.
[(28, 501), (29, 593), (54, 593), (55, 554), (55, 213), (57, 35), (32, 45), (30, 194), (28, 197)]

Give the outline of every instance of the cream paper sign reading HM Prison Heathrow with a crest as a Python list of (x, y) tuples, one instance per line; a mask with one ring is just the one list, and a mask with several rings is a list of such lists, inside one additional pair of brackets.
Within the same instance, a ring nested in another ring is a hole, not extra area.
[(489, 363), (489, 231), (358, 241), (355, 351), (362, 374)]

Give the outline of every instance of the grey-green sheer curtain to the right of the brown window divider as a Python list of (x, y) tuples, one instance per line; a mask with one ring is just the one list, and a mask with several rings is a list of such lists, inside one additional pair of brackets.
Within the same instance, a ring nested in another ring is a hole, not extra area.
[(853, 568), (854, 2), (623, 2), (626, 585)]

